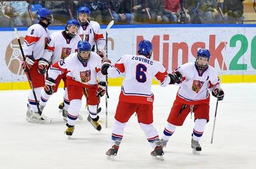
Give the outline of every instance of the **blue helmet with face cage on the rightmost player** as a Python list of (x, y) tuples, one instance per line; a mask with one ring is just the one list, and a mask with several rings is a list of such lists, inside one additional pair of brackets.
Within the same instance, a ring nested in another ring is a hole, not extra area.
[[(199, 63), (199, 59), (201, 58), (207, 58), (207, 62), (205, 64), (201, 62)], [(195, 66), (201, 71), (203, 71), (208, 66), (210, 58), (211, 58), (211, 54), (208, 49), (205, 49), (205, 48), (199, 49), (196, 60), (195, 60)]]

